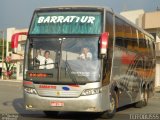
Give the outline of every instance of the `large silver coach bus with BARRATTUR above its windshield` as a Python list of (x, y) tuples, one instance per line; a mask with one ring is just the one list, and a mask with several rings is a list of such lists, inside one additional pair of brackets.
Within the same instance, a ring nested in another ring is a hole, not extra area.
[(36, 9), (26, 41), (28, 110), (95, 112), (147, 105), (154, 92), (153, 37), (102, 7)]

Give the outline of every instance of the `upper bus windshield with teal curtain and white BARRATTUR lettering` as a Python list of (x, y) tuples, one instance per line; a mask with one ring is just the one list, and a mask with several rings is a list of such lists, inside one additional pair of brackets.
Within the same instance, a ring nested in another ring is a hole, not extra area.
[(101, 12), (36, 12), (29, 34), (100, 34)]

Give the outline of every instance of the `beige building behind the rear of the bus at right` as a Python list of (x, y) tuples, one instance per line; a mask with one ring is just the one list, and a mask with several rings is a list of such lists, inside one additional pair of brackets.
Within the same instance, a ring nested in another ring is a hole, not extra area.
[(154, 36), (157, 63), (155, 86), (160, 86), (160, 11), (144, 12), (144, 10), (132, 10), (124, 11), (120, 14)]

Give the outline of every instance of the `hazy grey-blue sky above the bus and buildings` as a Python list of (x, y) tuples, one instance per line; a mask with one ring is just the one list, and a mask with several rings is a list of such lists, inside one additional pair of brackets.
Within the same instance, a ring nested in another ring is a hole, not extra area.
[(112, 8), (116, 13), (136, 9), (148, 12), (160, 8), (160, 0), (1, 0), (0, 30), (10, 27), (28, 28), (36, 8), (64, 5), (104, 6)]

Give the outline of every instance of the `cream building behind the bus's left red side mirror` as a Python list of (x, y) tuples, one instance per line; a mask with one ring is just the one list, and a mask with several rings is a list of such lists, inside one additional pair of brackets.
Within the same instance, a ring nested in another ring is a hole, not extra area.
[(12, 35), (19, 32), (27, 32), (28, 29), (16, 29), (16, 28), (8, 28), (7, 29), (7, 44), (6, 44), (6, 56), (11, 56), (12, 62), (14, 62), (14, 73), (13, 78), (17, 80), (23, 79), (23, 59), (24, 59), (24, 49), (25, 49), (25, 41), (26, 36), (21, 35), (18, 38), (18, 53), (13, 54), (12, 49), (10, 47)]

